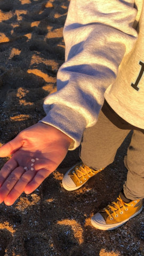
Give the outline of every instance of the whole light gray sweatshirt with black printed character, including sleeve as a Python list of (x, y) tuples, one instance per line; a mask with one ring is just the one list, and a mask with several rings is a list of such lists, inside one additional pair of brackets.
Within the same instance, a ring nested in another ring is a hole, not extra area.
[(144, 129), (144, 0), (71, 0), (63, 36), (58, 91), (45, 99), (41, 122), (66, 133), (75, 149), (106, 98)]

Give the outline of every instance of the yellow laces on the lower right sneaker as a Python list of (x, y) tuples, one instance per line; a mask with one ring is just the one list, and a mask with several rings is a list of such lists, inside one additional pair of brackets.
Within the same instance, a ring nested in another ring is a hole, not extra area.
[[(121, 205), (119, 204), (119, 202), (121, 202)], [(113, 205), (115, 205), (116, 207), (114, 207)], [(116, 211), (118, 209), (120, 214), (123, 214), (122, 208), (124, 208), (125, 211), (127, 211), (127, 207), (126, 206), (132, 206), (132, 204), (127, 204), (125, 202), (123, 202), (123, 200), (121, 199), (121, 197), (117, 197), (117, 202), (112, 202), (111, 204), (108, 205), (109, 210), (107, 210), (106, 208), (104, 208), (103, 210), (105, 210), (107, 212), (107, 214), (109, 215), (110, 220), (113, 220), (113, 217), (110, 213), (110, 210), (113, 210), (115, 217), (118, 217), (118, 214), (116, 214)]]

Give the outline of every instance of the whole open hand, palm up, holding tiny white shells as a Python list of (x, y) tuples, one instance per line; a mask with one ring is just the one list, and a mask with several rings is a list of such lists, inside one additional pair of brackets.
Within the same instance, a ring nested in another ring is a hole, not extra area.
[(0, 203), (12, 205), (23, 191), (33, 192), (65, 158), (71, 139), (51, 125), (38, 123), (0, 148), (13, 156), (0, 171)]

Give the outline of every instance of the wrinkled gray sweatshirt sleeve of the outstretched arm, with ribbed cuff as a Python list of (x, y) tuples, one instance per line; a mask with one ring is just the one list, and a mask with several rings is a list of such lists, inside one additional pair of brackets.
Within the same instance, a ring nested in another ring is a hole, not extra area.
[(58, 91), (44, 101), (50, 124), (81, 143), (86, 127), (93, 126), (104, 93), (114, 83), (124, 55), (137, 41), (133, 22), (134, 0), (71, 0), (63, 36), (65, 63), (57, 75)]

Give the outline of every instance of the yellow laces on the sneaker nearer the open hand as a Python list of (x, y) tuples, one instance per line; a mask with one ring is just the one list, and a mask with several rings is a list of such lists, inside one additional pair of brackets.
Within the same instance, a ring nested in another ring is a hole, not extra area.
[[(77, 173), (75, 173), (75, 171)], [(87, 175), (87, 178), (90, 178), (90, 173), (92, 173), (93, 175), (95, 174), (94, 171), (90, 169), (90, 167), (84, 164), (76, 167), (75, 171), (73, 171), (73, 174), (75, 175), (79, 183), (82, 183), (82, 181), (79, 178), (83, 177), (83, 179), (86, 180), (85, 175)]]

